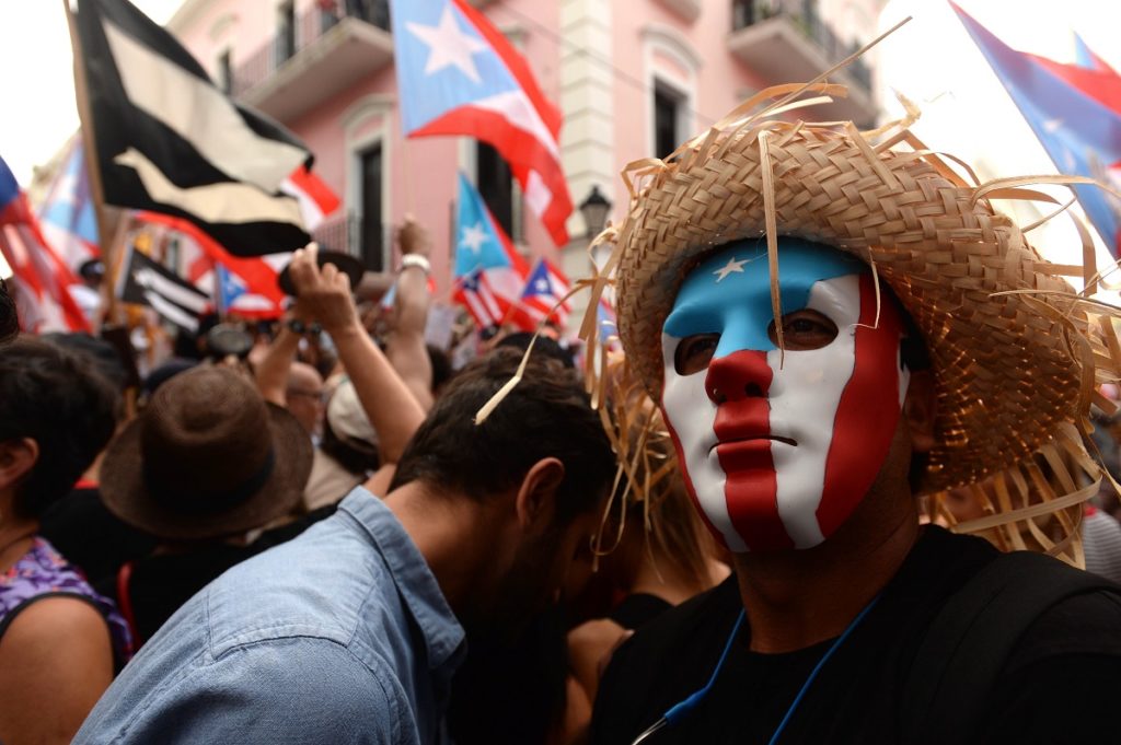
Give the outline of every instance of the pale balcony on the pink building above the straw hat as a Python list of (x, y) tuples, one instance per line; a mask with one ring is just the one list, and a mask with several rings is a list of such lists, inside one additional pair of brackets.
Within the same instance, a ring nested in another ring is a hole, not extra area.
[[(814, 0), (735, 0), (728, 47), (770, 85), (812, 81), (859, 48), (836, 37)], [(876, 122), (872, 71), (863, 59), (834, 73), (828, 82), (847, 85), (849, 97), (814, 106), (807, 115), (851, 119), (865, 127)]]

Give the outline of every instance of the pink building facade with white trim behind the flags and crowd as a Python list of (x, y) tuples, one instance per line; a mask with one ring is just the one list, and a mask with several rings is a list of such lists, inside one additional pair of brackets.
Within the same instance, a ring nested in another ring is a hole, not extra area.
[[(413, 2), (421, 0), (408, 0)], [(573, 202), (593, 187), (626, 208), (620, 170), (668, 155), (768, 85), (804, 82), (874, 36), (882, 0), (472, 0), (522, 50), (560, 106)], [(439, 294), (451, 286), (456, 171), (480, 188), (529, 255), (587, 273), (587, 226), (555, 248), (521, 205), (492, 150), (467, 138), (406, 140), (386, 0), (187, 0), (168, 28), (241, 102), (279, 120), (315, 152), (343, 207), (316, 238), (396, 268), (392, 226), (406, 214), (434, 238)], [(815, 118), (872, 123), (874, 55), (836, 74), (851, 95)], [(578, 304), (577, 304), (578, 305)]]

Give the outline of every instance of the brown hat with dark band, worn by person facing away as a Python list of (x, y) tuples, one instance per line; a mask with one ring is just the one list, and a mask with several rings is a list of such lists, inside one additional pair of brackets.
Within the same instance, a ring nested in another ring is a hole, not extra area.
[(312, 441), (242, 375), (176, 375), (112, 441), (101, 495), (121, 520), (169, 540), (241, 533), (290, 512), (312, 471)]

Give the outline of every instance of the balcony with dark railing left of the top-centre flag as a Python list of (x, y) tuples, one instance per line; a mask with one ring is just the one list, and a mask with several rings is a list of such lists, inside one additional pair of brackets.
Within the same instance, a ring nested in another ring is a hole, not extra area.
[(272, 41), (234, 72), (231, 92), (290, 122), (392, 62), (388, 0), (317, 6), (281, 24)]

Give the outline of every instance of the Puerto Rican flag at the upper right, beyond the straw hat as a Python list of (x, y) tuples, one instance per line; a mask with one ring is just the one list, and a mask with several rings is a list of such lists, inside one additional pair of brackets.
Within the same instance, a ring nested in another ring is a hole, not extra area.
[[(1017, 52), (951, 2), (970, 36), (1056, 168), (1121, 186), (1121, 77), (1080, 40), (1080, 64)], [(1110, 253), (1119, 254), (1117, 202), (1094, 186), (1074, 187)]]

